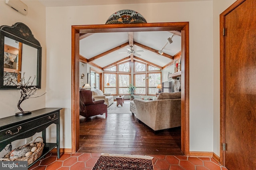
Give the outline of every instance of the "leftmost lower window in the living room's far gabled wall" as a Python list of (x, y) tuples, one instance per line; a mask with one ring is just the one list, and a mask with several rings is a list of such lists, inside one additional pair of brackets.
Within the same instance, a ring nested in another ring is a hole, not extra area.
[[(109, 86), (106, 84), (109, 83)], [(116, 73), (104, 73), (104, 90), (105, 93), (111, 93), (111, 95), (116, 94)]]

